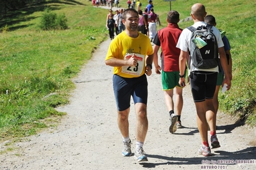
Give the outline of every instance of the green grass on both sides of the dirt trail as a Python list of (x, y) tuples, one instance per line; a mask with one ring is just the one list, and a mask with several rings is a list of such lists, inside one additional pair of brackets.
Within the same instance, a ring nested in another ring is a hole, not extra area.
[[(142, 6), (147, 1), (141, 0)], [(171, 2), (180, 19), (190, 16), (197, 1)], [(226, 31), (232, 46), (232, 89), (219, 94), (220, 109), (239, 115), (256, 125), (256, 2), (238, 0), (201, 1), (217, 27)], [(126, 7), (126, 1), (120, 1)], [(40, 17), (46, 6), (58, 15), (65, 13), (66, 30), (42, 31)], [(154, 1), (155, 13), (166, 26), (169, 2)], [(98, 44), (108, 37), (108, 10), (92, 8), (90, 1), (42, 1), (8, 13), (0, 21), (0, 138), (26, 137), (53, 127), (65, 115), (54, 108), (69, 102), (74, 89), (71, 79), (80, 72)], [(192, 21), (180, 22), (185, 28)]]

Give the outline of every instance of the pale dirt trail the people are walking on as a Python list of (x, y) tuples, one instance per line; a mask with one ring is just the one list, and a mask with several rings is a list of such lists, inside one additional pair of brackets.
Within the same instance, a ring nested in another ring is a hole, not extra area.
[[(213, 157), (198, 155), (201, 139), (189, 86), (183, 94), (184, 128), (170, 134), (160, 75), (155, 73), (148, 77), (149, 129), (144, 150), (149, 161), (139, 164), (133, 157), (122, 157), (112, 68), (104, 61), (109, 43), (110, 40), (101, 43), (74, 79), (76, 89), (71, 94), (71, 103), (57, 109), (67, 112), (60, 125), (13, 144), (15, 150), (0, 155), (0, 169), (210, 169), (211, 161), (218, 163), (211, 169), (256, 169), (256, 131), (235, 124), (232, 118), (221, 113), (218, 114), (217, 130), (221, 148), (212, 150)], [(130, 137), (134, 151), (133, 105)], [(0, 151), (8, 147), (1, 143)], [(235, 160), (252, 160), (252, 164), (230, 164)]]

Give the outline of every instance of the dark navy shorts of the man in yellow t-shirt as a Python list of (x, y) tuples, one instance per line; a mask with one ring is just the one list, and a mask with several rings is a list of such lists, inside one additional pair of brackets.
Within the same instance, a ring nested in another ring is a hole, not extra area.
[(130, 107), (131, 96), (134, 104), (148, 102), (148, 81), (145, 74), (135, 78), (114, 75), (113, 88), (118, 111), (124, 111)]

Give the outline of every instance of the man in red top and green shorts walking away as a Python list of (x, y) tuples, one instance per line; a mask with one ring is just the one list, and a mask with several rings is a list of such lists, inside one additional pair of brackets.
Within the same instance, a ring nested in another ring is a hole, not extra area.
[[(176, 132), (176, 128), (182, 127), (182, 122), (180, 116), (182, 114), (183, 107), (183, 97), (182, 97), (182, 87), (178, 84), (180, 80), (179, 77), (179, 56), (180, 49), (176, 48), (176, 43), (178, 38), (182, 33), (182, 29), (178, 27), (178, 22), (180, 21), (180, 14), (176, 11), (170, 11), (167, 13), (167, 27), (160, 29), (155, 35), (153, 43), (155, 44), (154, 49), (154, 65), (155, 72), (160, 74), (162, 70), (162, 86), (164, 90), (164, 98), (166, 100), (166, 107), (169, 112), (171, 125), (169, 127), (169, 132), (172, 134)], [(162, 65), (158, 65), (158, 50), (162, 47)], [(173, 92), (175, 88), (175, 108), (173, 102)], [(175, 114), (175, 112), (177, 114)], [(178, 120), (178, 121), (177, 121)], [(177, 121), (177, 123), (176, 123)]]

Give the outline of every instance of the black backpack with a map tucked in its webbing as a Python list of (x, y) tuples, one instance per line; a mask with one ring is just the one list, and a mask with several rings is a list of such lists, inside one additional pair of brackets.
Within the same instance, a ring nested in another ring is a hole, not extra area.
[(212, 26), (187, 27), (192, 32), (189, 67), (210, 69), (218, 66), (218, 42), (210, 30)]

